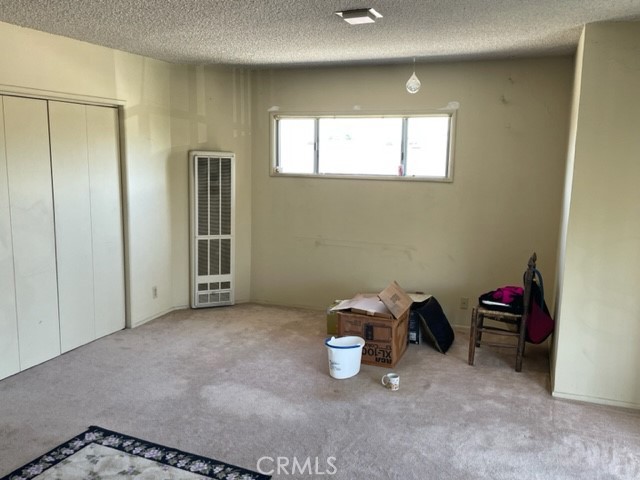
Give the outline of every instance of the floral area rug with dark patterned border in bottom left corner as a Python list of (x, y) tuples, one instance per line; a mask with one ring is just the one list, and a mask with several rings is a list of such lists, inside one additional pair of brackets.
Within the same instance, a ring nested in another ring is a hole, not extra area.
[(0, 480), (261, 480), (270, 476), (100, 427), (54, 448)]

